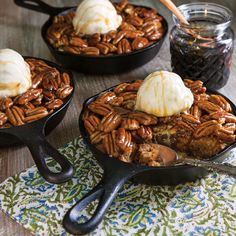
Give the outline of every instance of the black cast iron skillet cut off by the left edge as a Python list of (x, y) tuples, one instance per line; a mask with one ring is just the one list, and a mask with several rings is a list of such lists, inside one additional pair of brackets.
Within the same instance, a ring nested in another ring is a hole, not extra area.
[[(27, 58), (34, 57), (25, 57), (25, 59)], [(65, 71), (55, 63), (41, 58), (35, 59), (42, 60), (48, 65), (57, 68), (61, 72)], [(66, 72), (69, 73), (71, 84), (73, 88), (75, 88), (72, 74), (68, 71)], [(69, 180), (73, 175), (73, 167), (70, 162), (45, 139), (45, 134), (49, 134), (64, 118), (72, 96), (73, 92), (66, 98), (64, 104), (59, 109), (40, 120), (21, 126), (0, 129), (0, 148), (25, 144), (32, 154), (39, 173), (45, 180), (51, 183), (63, 183)], [(48, 168), (45, 162), (45, 158), (48, 156), (52, 157), (57, 163), (60, 164), (61, 171), (59, 173), (54, 173)]]

